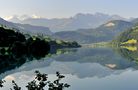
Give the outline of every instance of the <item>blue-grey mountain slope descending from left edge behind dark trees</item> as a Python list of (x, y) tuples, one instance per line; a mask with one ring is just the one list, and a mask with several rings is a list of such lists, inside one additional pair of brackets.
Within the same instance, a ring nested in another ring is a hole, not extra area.
[(8, 22), (2, 18), (0, 18), (0, 25), (6, 26), (8, 28), (14, 28), (17, 30), (20, 30), (20, 32), (24, 33), (30, 33), (30, 34), (46, 34), (51, 35), (52, 32), (49, 30), (48, 27), (42, 27), (42, 26), (33, 26), (29, 24), (18, 24), (18, 23), (12, 23)]

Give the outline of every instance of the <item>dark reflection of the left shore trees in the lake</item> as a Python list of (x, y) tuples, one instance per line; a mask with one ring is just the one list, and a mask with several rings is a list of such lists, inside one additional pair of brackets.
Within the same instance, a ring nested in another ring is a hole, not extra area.
[[(71, 52), (69, 49), (55, 49), (49, 51), (49, 53), (43, 53), (43, 55), (33, 55), (32, 53), (29, 54), (18, 54), (12, 53), (10, 51), (3, 51), (5, 48), (0, 48), (0, 74), (6, 71), (19, 68), (24, 63), (29, 63), (33, 60), (41, 60), (44, 57), (51, 57), (54, 55), (64, 54)], [(75, 51), (74, 51), (75, 52)]]

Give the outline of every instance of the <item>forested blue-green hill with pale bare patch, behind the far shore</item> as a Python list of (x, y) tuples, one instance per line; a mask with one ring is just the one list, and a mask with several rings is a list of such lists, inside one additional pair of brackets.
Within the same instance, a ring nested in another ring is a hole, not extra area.
[(63, 40), (75, 40), (79, 43), (110, 41), (119, 33), (129, 29), (133, 23), (122, 20), (109, 21), (96, 29), (57, 32), (53, 36)]

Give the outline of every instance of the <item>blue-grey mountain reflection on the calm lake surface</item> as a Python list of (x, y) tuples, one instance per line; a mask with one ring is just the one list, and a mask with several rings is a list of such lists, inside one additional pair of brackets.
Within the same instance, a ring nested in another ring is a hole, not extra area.
[[(116, 51), (119, 52), (119, 50)], [(23, 62), (22, 64), (25, 64), (18, 68), (18, 71), (45, 68), (47, 73), (60, 71), (84, 78), (119, 74), (128, 68), (138, 69), (137, 63), (124, 58), (123, 53), (125, 52), (115, 53), (109, 48), (60, 49), (52, 51), (52, 54), (48, 55), (49, 57), (47, 56), (40, 61)]]

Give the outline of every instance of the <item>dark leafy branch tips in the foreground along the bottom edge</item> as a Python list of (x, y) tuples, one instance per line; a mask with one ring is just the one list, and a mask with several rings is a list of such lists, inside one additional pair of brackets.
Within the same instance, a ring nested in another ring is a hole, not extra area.
[[(27, 90), (63, 90), (65, 88), (69, 88), (70, 85), (67, 83), (61, 82), (63, 78), (65, 78), (64, 75), (60, 74), (59, 72), (56, 72), (57, 79), (54, 81), (48, 80), (48, 74), (40, 73), (39, 71), (35, 71), (35, 78), (34, 80), (28, 82), (26, 85)], [(0, 88), (4, 87), (5, 80), (0, 80)], [(10, 90), (22, 90), (18, 84), (12, 80), (13, 87), (10, 88)]]

